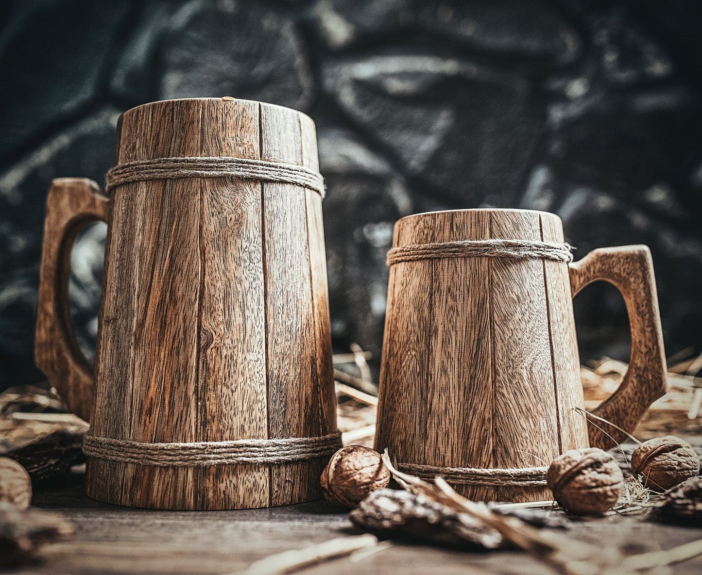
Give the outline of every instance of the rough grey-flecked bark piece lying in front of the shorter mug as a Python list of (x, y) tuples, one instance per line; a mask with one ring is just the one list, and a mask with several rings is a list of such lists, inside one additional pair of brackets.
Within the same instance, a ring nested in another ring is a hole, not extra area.
[(378, 489), (349, 513), (358, 527), (379, 536), (406, 536), (440, 546), (489, 550), (503, 546), (498, 532), (468, 515), (395, 489)]

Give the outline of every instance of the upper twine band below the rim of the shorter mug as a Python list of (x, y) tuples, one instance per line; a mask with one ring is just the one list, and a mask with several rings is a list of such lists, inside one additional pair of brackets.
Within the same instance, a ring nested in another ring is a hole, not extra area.
[(399, 262), (446, 257), (512, 257), (514, 259), (552, 259), (569, 264), (573, 261), (567, 243), (532, 240), (462, 240), (452, 242), (416, 243), (392, 248), (388, 252), (388, 267)]

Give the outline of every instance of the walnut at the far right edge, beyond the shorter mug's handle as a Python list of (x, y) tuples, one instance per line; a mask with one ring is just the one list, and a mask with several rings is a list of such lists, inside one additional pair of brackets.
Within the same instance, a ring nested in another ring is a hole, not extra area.
[(640, 474), (649, 489), (665, 491), (697, 475), (700, 460), (687, 441), (665, 435), (644, 441), (635, 449), (631, 471)]

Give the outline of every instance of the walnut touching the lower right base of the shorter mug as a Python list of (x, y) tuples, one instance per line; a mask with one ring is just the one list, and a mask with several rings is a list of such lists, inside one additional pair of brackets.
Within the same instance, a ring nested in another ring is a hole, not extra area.
[(556, 501), (580, 515), (611, 509), (624, 489), (624, 476), (616, 460), (596, 447), (571, 449), (554, 459), (546, 482)]

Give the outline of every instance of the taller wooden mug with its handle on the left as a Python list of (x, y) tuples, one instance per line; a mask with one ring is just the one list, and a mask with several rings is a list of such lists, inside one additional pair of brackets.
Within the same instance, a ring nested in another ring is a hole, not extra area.
[[(110, 197), (48, 193), (36, 360), (90, 420), (89, 496), (234, 509), (317, 499), (340, 446), (314, 123), (233, 98), (119, 121)], [(70, 328), (72, 241), (107, 222), (95, 370)]]

